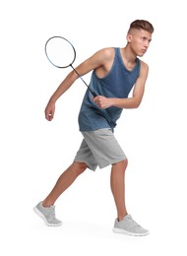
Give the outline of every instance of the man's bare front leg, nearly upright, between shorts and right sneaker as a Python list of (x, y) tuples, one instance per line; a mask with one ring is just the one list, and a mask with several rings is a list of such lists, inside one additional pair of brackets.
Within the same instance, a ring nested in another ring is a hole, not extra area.
[(123, 220), (123, 218), (127, 215), (125, 205), (125, 170), (127, 163), (127, 160), (122, 160), (113, 164), (111, 169), (110, 184), (117, 208), (118, 221)]

